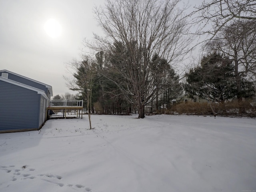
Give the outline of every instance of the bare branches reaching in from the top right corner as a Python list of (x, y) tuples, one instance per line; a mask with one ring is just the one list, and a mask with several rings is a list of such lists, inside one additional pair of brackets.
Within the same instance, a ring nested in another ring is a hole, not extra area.
[[(214, 38), (222, 28), (237, 20), (256, 20), (255, 0), (212, 0), (202, 4), (190, 14), (192, 23), (198, 25), (196, 34)], [(209, 40), (209, 39), (207, 39)]]

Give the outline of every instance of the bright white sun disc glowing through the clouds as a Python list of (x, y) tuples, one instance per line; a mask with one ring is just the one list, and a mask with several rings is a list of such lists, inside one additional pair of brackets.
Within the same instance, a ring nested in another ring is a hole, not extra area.
[(62, 27), (60, 23), (55, 19), (49, 19), (44, 24), (44, 30), (51, 38), (57, 38), (62, 33)]

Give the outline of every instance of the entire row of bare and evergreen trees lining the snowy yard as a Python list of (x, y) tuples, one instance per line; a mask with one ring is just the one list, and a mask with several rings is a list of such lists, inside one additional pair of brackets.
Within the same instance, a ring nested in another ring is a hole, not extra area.
[(193, 24), (204, 21), (214, 27), (208, 31), (198, 27), (197, 35), (211, 34), (204, 43), (206, 54), (181, 77), (174, 67), (190, 51), (193, 36), (188, 35), (191, 25), (186, 8), (179, 8), (180, 1), (106, 0), (105, 7), (95, 9), (106, 36), (94, 34), (95, 41), (85, 41), (96, 54), (70, 62), (74, 79), (67, 79), (68, 86), (79, 91), (89, 112), (93, 104), (94, 111), (108, 114), (135, 109), (138, 118), (144, 118), (149, 104), (151, 110), (169, 108), (184, 90), (192, 98), (197, 95), (209, 102), (252, 98), (256, 78), (253, 3), (213, 0), (190, 14), (200, 13)]

